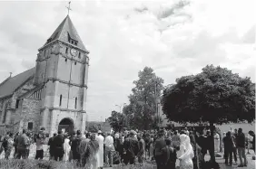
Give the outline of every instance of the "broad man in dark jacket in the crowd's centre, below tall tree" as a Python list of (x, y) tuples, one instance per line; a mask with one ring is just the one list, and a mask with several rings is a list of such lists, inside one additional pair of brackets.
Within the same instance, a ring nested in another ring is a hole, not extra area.
[(126, 153), (124, 164), (135, 164), (135, 156), (139, 152), (139, 142), (135, 136), (136, 132), (131, 130), (130, 137), (127, 137), (123, 142), (123, 148)]

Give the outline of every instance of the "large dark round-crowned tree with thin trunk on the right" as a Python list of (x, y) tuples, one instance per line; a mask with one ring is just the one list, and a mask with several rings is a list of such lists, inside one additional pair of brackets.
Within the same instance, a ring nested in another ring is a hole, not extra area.
[[(176, 122), (209, 122), (213, 134), (214, 123), (254, 120), (255, 84), (231, 70), (207, 65), (201, 73), (183, 76), (164, 89), (162, 110)], [(215, 162), (213, 151), (211, 158)]]

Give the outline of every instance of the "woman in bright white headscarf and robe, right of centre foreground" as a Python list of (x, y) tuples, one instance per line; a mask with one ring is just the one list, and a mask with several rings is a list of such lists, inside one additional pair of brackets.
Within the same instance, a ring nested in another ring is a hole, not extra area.
[(193, 169), (192, 158), (194, 155), (193, 155), (190, 136), (182, 134), (180, 138), (181, 138), (181, 146), (180, 146), (181, 155), (179, 157), (180, 169)]

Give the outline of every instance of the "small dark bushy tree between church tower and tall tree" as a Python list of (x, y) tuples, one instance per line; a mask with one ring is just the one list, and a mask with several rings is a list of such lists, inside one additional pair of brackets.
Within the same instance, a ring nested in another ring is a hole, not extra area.
[(126, 127), (125, 115), (116, 111), (112, 111), (111, 117), (108, 117), (107, 121), (116, 132), (120, 132), (124, 127)]

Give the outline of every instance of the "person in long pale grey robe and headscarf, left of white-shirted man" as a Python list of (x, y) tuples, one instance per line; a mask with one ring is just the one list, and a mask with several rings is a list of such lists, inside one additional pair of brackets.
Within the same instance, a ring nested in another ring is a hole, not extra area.
[(98, 151), (99, 151), (99, 143), (96, 140), (96, 136), (95, 134), (93, 134), (90, 137), (90, 142), (88, 143), (88, 148), (89, 148), (89, 156), (88, 156), (88, 160), (86, 160), (86, 166), (85, 168), (87, 168), (89, 166), (89, 168), (91, 169), (98, 169)]

